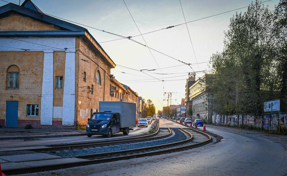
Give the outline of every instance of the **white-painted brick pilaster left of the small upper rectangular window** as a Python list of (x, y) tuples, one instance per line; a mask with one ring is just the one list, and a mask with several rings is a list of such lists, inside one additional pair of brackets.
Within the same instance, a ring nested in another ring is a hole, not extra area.
[(44, 51), (43, 83), (41, 96), (41, 125), (53, 124), (53, 51)]

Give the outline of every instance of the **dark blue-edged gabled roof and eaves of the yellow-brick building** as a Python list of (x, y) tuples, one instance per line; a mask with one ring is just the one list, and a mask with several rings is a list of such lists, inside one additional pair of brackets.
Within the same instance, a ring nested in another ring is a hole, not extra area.
[(102, 46), (96, 41), (96, 39), (90, 34), (90, 32), (79, 25), (69, 23), (67, 21), (55, 18), (49, 14), (42, 12), (31, 0), (25, 0), (22, 5), (16, 5), (8, 3), (0, 7), (0, 18), (5, 17), (9, 13), (20, 13), (22, 15), (31, 17), (33, 19), (44, 21), (46, 23), (58, 26), (61, 30), (37, 30), (37, 31), (0, 31), (0, 37), (23, 37), (23, 36), (40, 36), (40, 37), (82, 37), (85, 42), (88, 43), (93, 51), (98, 54), (103, 61), (110, 66), (115, 68), (115, 63), (104, 51)]

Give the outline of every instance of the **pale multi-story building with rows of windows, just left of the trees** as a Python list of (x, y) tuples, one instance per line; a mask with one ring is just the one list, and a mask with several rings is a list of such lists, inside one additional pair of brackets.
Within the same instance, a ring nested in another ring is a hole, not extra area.
[(203, 119), (207, 122), (212, 120), (212, 99), (211, 96), (205, 91), (212, 80), (211, 74), (205, 74), (199, 78), (192, 86), (189, 87), (189, 101), (192, 105), (193, 115), (192, 119)]

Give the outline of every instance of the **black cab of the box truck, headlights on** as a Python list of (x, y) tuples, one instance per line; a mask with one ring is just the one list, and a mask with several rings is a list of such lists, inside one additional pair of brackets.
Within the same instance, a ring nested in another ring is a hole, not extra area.
[[(86, 126), (87, 136), (92, 135), (106, 135), (111, 137), (112, 134), (123, 131), (120, 128), (119, 113), (111, 111), (94, 112)], [(125, 132), (124, 132), (125, 134)]]

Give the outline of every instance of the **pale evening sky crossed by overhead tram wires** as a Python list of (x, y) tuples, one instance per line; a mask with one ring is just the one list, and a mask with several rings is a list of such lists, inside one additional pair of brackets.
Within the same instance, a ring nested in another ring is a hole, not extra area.
[[(19, 0), (6, 0), (12, 3), (19, 3)], [(163, 29), (169, 26), (184, 23), (183, 12), (186, 21), (208, 17), (218, 13), (245, 7), (251, 0), (32, 0), (44, 13), (55, 15), (64, 19), (75, 21), (122, 36), (139, 35), (139, 31), (133, 21), (135, 20), (141, 33)], [(24, 0), (21, 0), (21, 3)], [(271, 10), (279, 3), (279, 0), (272, 0), (263, 3)], [(0, 6), (6, 4), (0, 1)], [(239, 9), (238, 12), (245, 12), (247, 8)], [(228, 30), (229, 19), (236, 11), (201, 19), (191, 23), (179, 25), (169, 29), (156, 31), (143, 35), (147, 45), (157, 51), (185, 63), (192, 64), (192, 69), (183, 63), (154, 50), (135, 43), (129, 39), (108, 34), (90, 27), (83, 26), (94, 36), (102, 48), (117, 65), (111, 69), (115, 78), (131, 87), (142, 98), (151, 99), (157, 110), (167, 104), (167, 94), (164, 92), (178, 92), (172, 94), (171, 104), (180, 104), (181, 98), (185, 98), (185, 83), (188, 72), (197, 72), (209, 69), (208, 62), (213, 53), (223, 50), (224, 31)], [(189, 29), (193, 49), (187, 32)], [(132, 37), (134, 40), (144, 43), (141, 36)], [(109, 41), (109, 42), (104, 42)], [(104, 43), (101, 43), (104, 42)], [(196, 59), (195, 59), (196, 57)], [(157, 64), (156, 64), (157, 62)], [(201, 63), (201, 64), (196, 64)], [(158, 69), (146, 71), (147, 74), (135, 70)], [(183, 66), (177, 66), (183, 65)], [(177, 66), (172, 68), (165, 68)], [(125, 73), (122, 73), (125, 72)], [(164, 73), (166, 75), (156, 74)], [(177, 73), (177, 74), (170, 74)], [(177, 76), (177, 77), (174, 77)], [(196, 77), (203, 76), (199, 73)], [(173, 77), (173, 78), (169, 78)], [(164, 82), (159, 81), (165, 80)], [(173, 81), (168, 81), (173, 80)], [(163, 101), (165, 99), (165, 101)]]

